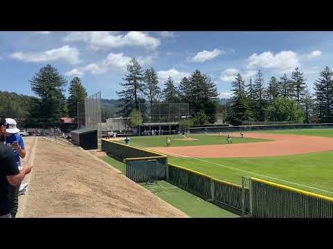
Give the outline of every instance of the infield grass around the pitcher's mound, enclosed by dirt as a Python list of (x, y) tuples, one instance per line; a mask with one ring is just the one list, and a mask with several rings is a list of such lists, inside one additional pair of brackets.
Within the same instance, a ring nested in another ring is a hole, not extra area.
[[(163, 147), (167, 146), (167, 138), (171, 139), (171, 146), (197, 146), (197, 145), (221, 145), (226, 144), (226, 136), (212, 136), (205, 134), (192, 134), (189, 138), (197, 140), (191, 141), (180, 141), (176, 139), (183, 138), (182, 135), (171, 135), (171, 136), (141, 136), (130, 138), (130, 144), (141, 145), (144, 147)], [(120, 140), (124, 142), (123, 140)], [(257, 138), (239, 138), (232, 136), (232, 143), (243, 143), (243, 142), (267, 142), (268, 139), (257, 139)]]

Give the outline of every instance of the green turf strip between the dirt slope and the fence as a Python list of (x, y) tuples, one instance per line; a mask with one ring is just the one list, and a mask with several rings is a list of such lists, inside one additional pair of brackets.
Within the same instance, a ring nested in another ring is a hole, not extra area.
[[(100, 156), (103, 161), (112, 167), (123, 172), (123, 163), (110, 158), (110, 156)], [(200, 199), (194, 194), (180, 189), (166, 181), (158, 181), (155, 185), (143, 185), (160, 199), (173, 205), (173, 207), (194, 218), (236, 218), (237, 214), (223, 210), (218, 206)]]

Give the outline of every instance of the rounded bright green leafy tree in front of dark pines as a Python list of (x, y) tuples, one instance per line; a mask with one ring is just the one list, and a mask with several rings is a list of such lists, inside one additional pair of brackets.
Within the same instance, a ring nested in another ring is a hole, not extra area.
[(268, 121), (291, 121), (302, 124), (305, 120), (305, 111), (296, 100), (279, 97), (274, 100), (267, 110)]

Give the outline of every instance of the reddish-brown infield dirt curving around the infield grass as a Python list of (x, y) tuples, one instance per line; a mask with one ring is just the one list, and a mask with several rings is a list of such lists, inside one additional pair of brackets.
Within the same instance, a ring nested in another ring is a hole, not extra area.
[[(239, 133), (232, 133), (232, 136), (239, 136)], [(148, 149), (171, 156), (187, 156), (194, 158), (280, 156), (333, 150), (333, 138), (269, 133), (245, 133), (245, 136), (247, 138), (266, 138), (273, 141), (248, 142), (232, 145), (150, 147)]]

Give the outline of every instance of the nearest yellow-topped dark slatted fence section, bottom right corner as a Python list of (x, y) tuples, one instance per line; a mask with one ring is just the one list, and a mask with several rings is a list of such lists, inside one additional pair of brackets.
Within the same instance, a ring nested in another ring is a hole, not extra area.
[(252, 216), (333, 218), (333, 199), (257, 178), (250, 181)]

